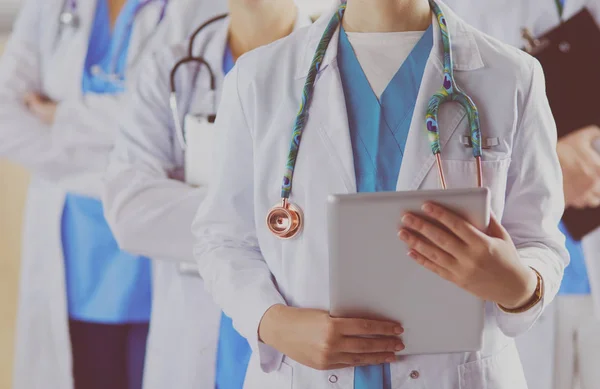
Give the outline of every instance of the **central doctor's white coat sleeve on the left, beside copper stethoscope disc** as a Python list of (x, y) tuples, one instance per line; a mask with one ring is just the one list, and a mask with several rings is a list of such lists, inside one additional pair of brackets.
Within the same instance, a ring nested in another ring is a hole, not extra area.
[[(241, 59), (243, 60), (243, 58)], [(240, 60), (240, 61), (241, 61)], [(254, 214), (253, 139), (238, 94), (238, 65), (226, 77), (217, 116), (214, 182), (193, 224), (194, 256), (207, 290), (248, 339), (265, 372), (282, 354), (261, 343), (265, 312), (286, 304), (260, 251)]]

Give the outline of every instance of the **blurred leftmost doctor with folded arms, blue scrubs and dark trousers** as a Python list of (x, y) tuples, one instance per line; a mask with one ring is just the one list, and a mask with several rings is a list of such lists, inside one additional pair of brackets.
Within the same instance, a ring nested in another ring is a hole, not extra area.
[(15, 389), (141, 388), (150, 262), (119, 249), (102, 176), (131, 76), (154, 45), (184, 39), (194, 4), (23, 4), (0, 59), (0, 157), (32, 173)]

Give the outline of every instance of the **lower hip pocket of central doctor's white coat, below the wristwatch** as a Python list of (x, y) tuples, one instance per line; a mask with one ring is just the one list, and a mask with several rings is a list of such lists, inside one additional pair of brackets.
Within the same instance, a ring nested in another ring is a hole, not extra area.
[(494, 355), (458, 367), (460, 389), (527, 389), (514, 343)]

